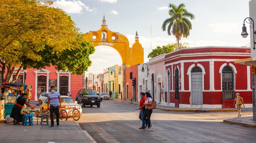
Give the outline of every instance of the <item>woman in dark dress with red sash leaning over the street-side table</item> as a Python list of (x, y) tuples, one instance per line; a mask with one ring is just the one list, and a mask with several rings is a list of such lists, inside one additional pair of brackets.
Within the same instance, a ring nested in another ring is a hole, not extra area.
[[(13, 118), (13, 124), (14, 125), (22, 125), (19, 121), (20, 121), (20, 111), (22, 109), (22, 106), (24, 104), (26, 104), (27, 106), (31, 107), (31, 109), (34, 109), (28, 102), (27, 102), (27, 93), (23, 93), (21, 94), (21, 96), (19, 96), (16, 99), (16, 104), (14, 104), (12, 110), (11, 110), (11, 115), (10, 117)], [(16, 124), (16, 120), (17, 120), (17, 124)]]

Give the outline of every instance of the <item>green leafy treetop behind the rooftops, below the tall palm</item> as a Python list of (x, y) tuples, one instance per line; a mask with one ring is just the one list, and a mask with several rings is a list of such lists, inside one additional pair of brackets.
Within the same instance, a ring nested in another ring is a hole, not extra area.
[[(188, 43), (180, 43), (181, 48), (189, 48)], [(169, 43), (167, 45), (163, 45), (162, 47), (157, 46), (156, 49), (153, 49), (152, 52), (148, 54), (148, 58), (156, 57), (162, 54), (171, 53), (177, 50), (177, 43)]]

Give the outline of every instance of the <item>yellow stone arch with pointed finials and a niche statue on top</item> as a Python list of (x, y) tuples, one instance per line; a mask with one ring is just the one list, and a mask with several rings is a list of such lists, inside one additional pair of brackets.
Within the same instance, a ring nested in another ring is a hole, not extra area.
[(139, 63), (144, 63), (144, 48), (142, 48), (139, 43), (137, 31), (135, 42), (130, 48), (129, 41), (123, 34), (108, 29), (105, 15), (102, 20), (101, 28), (98, 31), (89, 31), (83, 36), (86, 40), (92, 42), (95, 47), (99, 45), (107, 45), (116, 49), (122, 58), (123, 65), (126, 65), (126, 68)]

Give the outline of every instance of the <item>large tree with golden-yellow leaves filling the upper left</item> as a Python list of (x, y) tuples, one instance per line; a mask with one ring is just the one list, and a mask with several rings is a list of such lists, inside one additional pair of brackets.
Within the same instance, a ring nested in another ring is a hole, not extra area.
[[(86, 54), (94, 52), (94, 47), (82, 38), (82, 33), (75, 27), (70, 16), (62, 9), (51, 7), (52, 4), (53, 2), (49, 0), (0, 0), (0, 56), (7, 68), (5, 81), (10, 82), (16, 67), (18, 67), (16, 73), (18, 76), (22, 68), (40, 69), (50, 65), (54, 61), (47, 60), (47, 54), (49, 54), (48, 58), (52, 58), (53, 55), (63, 55), (62, 52), (69, 52), (68, 54), (72, 55), (75, 52), (88, 50), (86, 46), (92, 48), (91, 52)], [(89, 55), (86, 56), (88, 59), (82, 61), (91, 65)], [(73, 56), (71, 61), (75, 58), (80, 57)], [(59, 58), (57, 60), (58, 63), (63, 61)], [(53, 63), (56, 69), (69, 68), (70, 71), (75, 71), (75, 64), (72, 66), (62, 64), (60, 67), (56, 61), (55, 64)], [(5, 66), (1, 65), (2, 69)], [(75, 73), (81, 74), (80, 71)]]

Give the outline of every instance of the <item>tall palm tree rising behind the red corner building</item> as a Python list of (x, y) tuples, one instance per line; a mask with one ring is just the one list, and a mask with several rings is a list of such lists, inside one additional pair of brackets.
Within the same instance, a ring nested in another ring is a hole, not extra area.
[(163, 24), (163, 31), (166, 30), (167, 24), (167, 33), (168, 35), (174, 35), (177, 41), (178, 50), (180, 49), (180, 40), (181, 36), (187, 38), (189, 36), (189, 31), (192, 29), (192, 24), (188, 18), (191, 20), (195, 18), (194, 14), (190, 13), (185, 9), (185, 4), (181, 3), (178, 7), (174, 4), (169, 4), (169, 15), (170, 18), (167, 18)]

